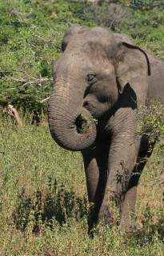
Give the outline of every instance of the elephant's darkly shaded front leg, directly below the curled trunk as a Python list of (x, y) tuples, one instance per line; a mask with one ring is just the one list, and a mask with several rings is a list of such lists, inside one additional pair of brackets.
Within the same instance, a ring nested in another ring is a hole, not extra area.
[(93, 229), (94, 224), (98, 222), (98, 213), (106, 190), (107, 152), (104, 150), (103, 146), (101, 148), (97, 146), (94, 150), (82, 151), (82, 157), (84, 160), (89, 202), (94, 203), (90, 211), (90, 231)]

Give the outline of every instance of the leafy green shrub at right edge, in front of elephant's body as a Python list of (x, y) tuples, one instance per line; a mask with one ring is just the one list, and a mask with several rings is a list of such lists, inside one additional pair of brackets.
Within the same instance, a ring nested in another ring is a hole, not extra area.
[[(160, 101), (151, 101), (148, 106), (142, 106), (139, 110), (141, 119), (142, 136), (148, 137), (150, 142), (149, 175), (159, 187), (164, 185), (164, 106)], [(156, 145), (154, 146), (154, 143)], [(144, 161), (144, 159), (143, 159)], [(154, 186), (154, 184), (152, 184)]]

